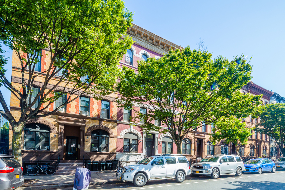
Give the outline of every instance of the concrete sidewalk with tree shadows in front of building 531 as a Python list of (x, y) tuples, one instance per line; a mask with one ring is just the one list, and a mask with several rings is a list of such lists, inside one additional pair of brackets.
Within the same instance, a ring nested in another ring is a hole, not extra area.
[[(38, 179), (30, 187), (19, 187), (17, 190), (41, 190), (73, 187), (75, 175), (24, 175), (26, 180)], [(108, 183), (122, 183), (117, 180), (116, 172), (96, 172), (91, 173), (90, 185), (101, 185)]]

